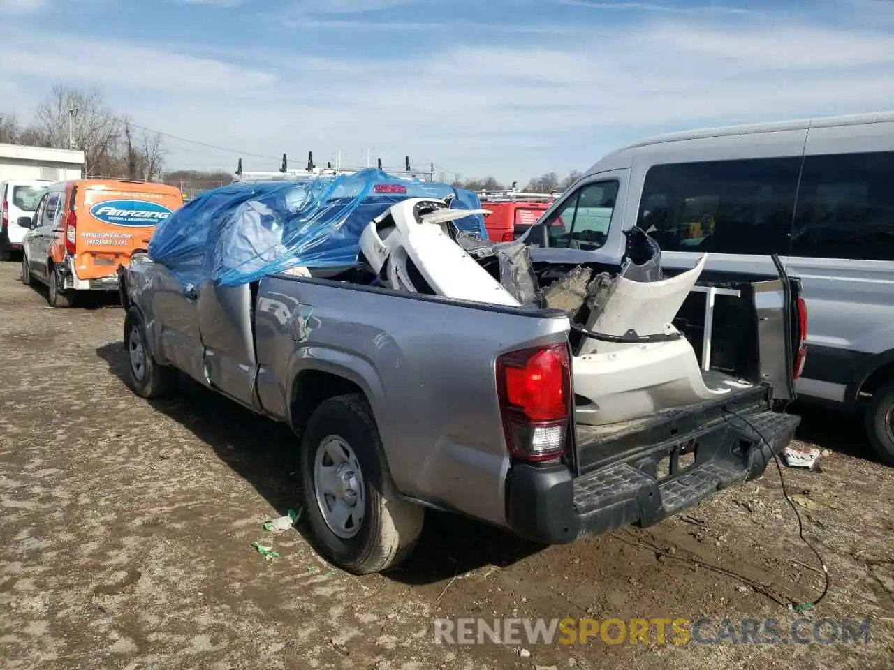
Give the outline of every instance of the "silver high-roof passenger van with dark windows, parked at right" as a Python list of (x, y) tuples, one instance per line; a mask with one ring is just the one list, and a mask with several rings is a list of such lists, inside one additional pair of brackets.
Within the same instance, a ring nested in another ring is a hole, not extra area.
[(638, 225), (671, 272), (707, 252), (707, 272), (775, 275), (779, 255), (807, 306), (798, 397), (864, 415), (894, 465), (894, 113), (648, 139), (595, 163), (541, 221), (551, 247), (607, 258)]

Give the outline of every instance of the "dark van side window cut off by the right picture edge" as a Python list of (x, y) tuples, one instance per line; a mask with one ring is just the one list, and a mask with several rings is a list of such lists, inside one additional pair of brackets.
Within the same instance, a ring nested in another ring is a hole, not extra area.
[(806, 156), (791, 255), (894, 261), (894, 152)]

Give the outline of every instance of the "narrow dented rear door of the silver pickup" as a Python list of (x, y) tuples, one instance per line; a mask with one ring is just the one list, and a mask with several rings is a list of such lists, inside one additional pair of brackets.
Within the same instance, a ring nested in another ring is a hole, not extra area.
[(253, 406), (257, 358), (250, 285), (216, 286), (207, 281), (198, 291), (197, 308), (207, 382)]

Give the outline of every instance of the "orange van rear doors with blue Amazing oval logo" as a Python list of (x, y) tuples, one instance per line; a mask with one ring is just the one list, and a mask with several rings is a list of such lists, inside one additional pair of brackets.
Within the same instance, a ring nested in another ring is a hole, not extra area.
[(84, 280), (114, 275), (135, 251), (148, 248), (156, 225), (181, 206), (176, 197), (166, 193), (108, 188), (88, 188), (83, 203), (76, 210), (76, 270)]

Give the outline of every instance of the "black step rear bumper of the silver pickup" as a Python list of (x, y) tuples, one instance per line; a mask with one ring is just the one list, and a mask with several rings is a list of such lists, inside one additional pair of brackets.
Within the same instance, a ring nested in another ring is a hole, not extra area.
[[(565, 544), (631, 523), (650, 526), (716, 490), (759, 477), (789, 444), (801, 418), (754, 406), (736, 412), (715, 412), (691, 430), (622, 452), (577, 478), (561, 464), (513, 466), (507, 482), (510, 530), (527, 540)], [(679, 424), (679, 417), (667, 423)], [(650, 426), (648, 433), (655, 431)], [(691, 453), (694, 446), (695, 463), (678, 471), (681, 451), (688, 447)], [(670, 473), (662, 477), (659, 464), (669, 459)]]

